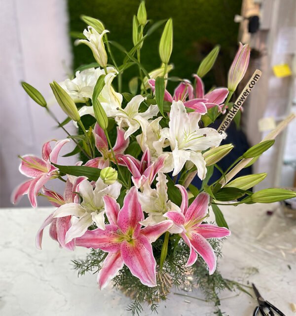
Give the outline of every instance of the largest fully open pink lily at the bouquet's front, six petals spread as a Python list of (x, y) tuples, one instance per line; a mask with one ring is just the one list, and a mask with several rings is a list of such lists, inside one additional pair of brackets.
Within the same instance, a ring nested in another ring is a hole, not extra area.
[(106, 230), (86, 231), (75, 239), (76, 246), (102, 249), (109, 252), (98, 274), (99, 288), (103, 289), (125, 264), (131, 273), (149, 287), (156, 286), (156, 261), (151, 242), (172, 226), (164, 221), (141, 228), (144, 213), (138, 201), (138, 191), (132, 187), (124, 198), (123, 207), (112, 197), (105, 196), (106, 215), (110, 224)]

